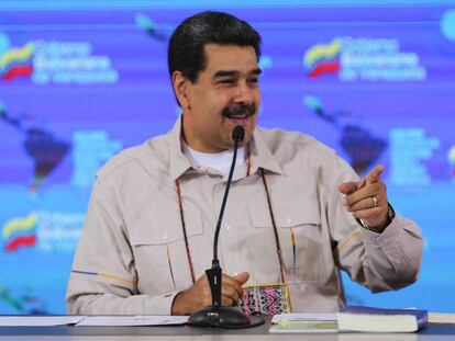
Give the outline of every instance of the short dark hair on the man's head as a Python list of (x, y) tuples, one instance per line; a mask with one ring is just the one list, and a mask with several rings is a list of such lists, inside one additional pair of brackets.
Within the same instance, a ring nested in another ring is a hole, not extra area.
[(187, 18), (174, 31), (167, 48), (169, 75), (178, 70), (191, 82), (207, 67), (206, 44), (252, 46), (260, 57), (260, 35), (247, 22), (222, 12), (201, 12)]

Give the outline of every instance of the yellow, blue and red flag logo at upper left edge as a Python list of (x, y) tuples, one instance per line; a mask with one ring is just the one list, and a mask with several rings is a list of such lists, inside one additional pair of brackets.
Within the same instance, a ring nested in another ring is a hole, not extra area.
[(20, 76), (30, 76), (33, 72), (33, 44), (27, 43), (20, 48), (11, 48), (0, 55), (0, 78), (13, 80)]

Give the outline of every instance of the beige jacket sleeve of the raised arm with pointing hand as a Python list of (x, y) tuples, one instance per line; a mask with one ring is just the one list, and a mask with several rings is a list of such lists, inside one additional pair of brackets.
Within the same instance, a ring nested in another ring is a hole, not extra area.
[[(332, 193), (329, 194), (328, 217), (333, 253), (340, 269), (371, 292), (398, 289), (417, 281), (423, 240), (414, 221), (399, 214), (381, 234), (363, 228), (347, 212), (337, 190), (342, 182), (356, 181), (352, 168), (337, 160), (332, 173)], [(330, 191), (328, 189), (328, 191)], [(389, 197), (390, 201), (390, 197)]]

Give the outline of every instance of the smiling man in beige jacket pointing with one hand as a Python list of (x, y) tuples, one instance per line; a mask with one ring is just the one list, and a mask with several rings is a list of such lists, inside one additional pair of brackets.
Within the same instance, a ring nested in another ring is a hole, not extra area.
[[(176, 29), (168, 64), (181, 118), (99, 172), (69, 280), (70, 314), (186, 315), (211, 304), (204, 270), (236, 125), (245, 138), (219, 241), (224, 305), (236, 305), (246, 286), (246, 311), (336, 311), (340, 269), (373, 292), (415, 281), (421, 234), (388, 205), (381, 167), (358, 180), (317, 140), (256, 128), (259, 45), (252, 26), (225, 13)], [(276, 310), (252, 306), (264, 292), (278, 298)]]

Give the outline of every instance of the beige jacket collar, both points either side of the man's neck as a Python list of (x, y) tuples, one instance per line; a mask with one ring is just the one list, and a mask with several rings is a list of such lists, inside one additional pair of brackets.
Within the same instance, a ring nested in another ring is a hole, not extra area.
[[(191, 162), (181, 151), (181, 116), (177, 120), (173, 129), (169, 132), (170, 139), (170, 164), (169, 180), (176, 181), (188, 169)], [(255, 173), (258, 168), (270, 172), (282, 174), (282, 168), (277, 162), (267, 144), (262, 136), (262, 129), (256, 128), (249, 143), (251, 173)]]

